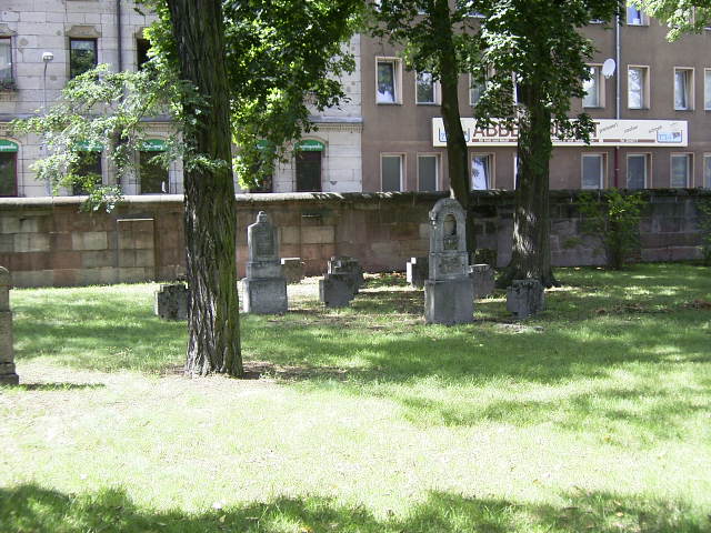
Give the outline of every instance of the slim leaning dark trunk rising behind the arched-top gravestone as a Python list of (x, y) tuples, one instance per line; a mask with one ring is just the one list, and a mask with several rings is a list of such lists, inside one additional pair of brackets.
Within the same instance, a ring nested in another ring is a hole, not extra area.
[(433, 31), (442, 42), (440, 47), (440, 86), (442, 88), (442, 122), (447, 133), (447, 169), (449, 172), (450, 194), (464, 209), (467, 215), (467, 251), (473, 262), (477, 238), (474, 235), (474, 218), (470, 212), (471, 195), (469, 190), (469, 160), (467, 141), (459, 112), (459, 69), (457, 50), (452, 39), (452, 21), (448, 0), (437, 0), (432, 12)]

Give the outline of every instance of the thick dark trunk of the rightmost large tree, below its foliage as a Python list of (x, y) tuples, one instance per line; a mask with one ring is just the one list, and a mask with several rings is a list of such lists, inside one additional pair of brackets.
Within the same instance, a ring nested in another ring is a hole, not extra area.
[(514, 193), (511, 262), (498, 280), (533, 278), (543, 286), (558, 282), (551, 268), (549, 165), (552, 152), (551, 113), (535, 87), (522, 87), (519, 119), (519, 167)]

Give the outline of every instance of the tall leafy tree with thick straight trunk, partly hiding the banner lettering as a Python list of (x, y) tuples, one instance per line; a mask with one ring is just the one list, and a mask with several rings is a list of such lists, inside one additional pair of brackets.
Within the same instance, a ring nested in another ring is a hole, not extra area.
[(491, 80), (479, 102), (485, 124), (500, 118), (519, 132), (511, 262), (499, 279), (533, 278), (555, 284), (551, 268), (549, 162), (552, 130), (589, 140), (587, 114), (569, 118), (571, 98), (582, 98), (593, 48), (580, 29), (590, 20), (611, 20), (618, 0), (492, 0), (484, 14), (479, 46)]

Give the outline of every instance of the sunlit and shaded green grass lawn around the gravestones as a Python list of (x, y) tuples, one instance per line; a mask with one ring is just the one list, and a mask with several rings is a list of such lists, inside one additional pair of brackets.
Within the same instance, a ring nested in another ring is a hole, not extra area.
[(0, 532), (711, 532), (711, 270), (559, 270), (547, 311), (427, 326), (371, 278), (242, 318), (190, 380), (157, 285), (16, 290)]

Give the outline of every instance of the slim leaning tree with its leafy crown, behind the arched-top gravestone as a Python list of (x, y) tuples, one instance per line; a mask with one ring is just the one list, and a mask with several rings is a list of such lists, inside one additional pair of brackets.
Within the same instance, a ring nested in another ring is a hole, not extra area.
[(474, 221), (470, 212), (470, 171), (467, 141), (461, 124), (459, 77), (474, 70), (478, 31), (470, 0), (382, 0), (373, 4), (375, 37), (403, 48), (409, 69), (430, 72), (442, 88), (442, 122), (447, 132), (447, 164), (451, 195), (467, 213), (467, 249), (475, 248)]

